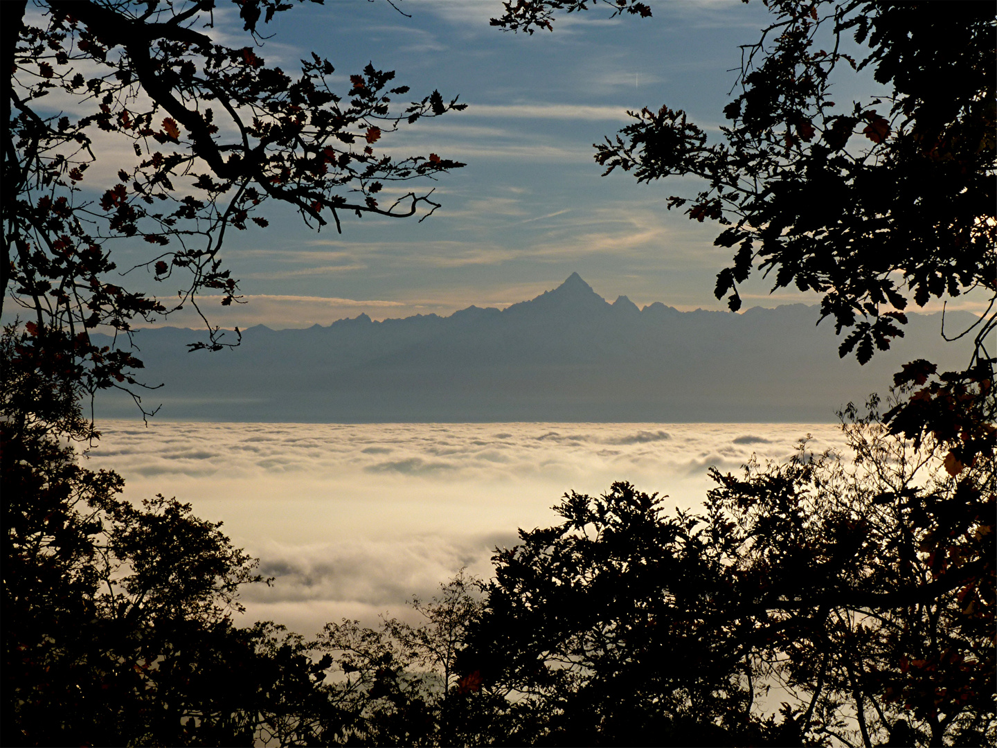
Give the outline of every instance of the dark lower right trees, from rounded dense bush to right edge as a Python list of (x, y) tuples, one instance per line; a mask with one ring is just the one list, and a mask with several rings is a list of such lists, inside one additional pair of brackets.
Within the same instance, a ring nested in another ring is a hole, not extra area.
[(512, 742), (994, 744), (994, 460), (845, 430), (702, 515), (617, 483), (520, 531), (461, 662), (531, 711)]

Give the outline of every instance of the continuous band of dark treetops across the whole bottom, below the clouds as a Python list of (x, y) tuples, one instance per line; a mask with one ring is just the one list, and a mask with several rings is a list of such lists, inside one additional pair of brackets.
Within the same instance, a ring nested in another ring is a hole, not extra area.
[(849, 416), (699, 513), (566, 495), (489, 584), (314, 641), (232, 624), (261, 579), (218, 525), (5, 421), (5, 742), (994, 744), (994, 461)]

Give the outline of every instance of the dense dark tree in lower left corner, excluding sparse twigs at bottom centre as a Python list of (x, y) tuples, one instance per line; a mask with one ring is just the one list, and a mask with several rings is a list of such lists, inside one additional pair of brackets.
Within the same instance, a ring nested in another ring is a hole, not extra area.
[(119, 475), (79, 465), (64, 440), (94, 435), (82, 384), (23, 367), (18, 339), (0, 341), (3, 744), (328, 742), (330, 661), (232, 625), (256, 561), (189, 505), (133, 506)]

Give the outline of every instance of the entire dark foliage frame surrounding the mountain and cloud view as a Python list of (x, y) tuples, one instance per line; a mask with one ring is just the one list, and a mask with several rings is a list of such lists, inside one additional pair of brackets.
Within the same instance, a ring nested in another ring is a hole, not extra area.
[[(590, 5), (510, 0), (495, 24), (549, 30)], [(700, 514), (627, 483), (572, 493), (559, 524), (498, 550), (493, 582), (414, 601), (419, 625), (343, 621), (314, 641), (234, 626), (240, 587), (266, 581), (255, 561), (187, 505), (123, 501), (120, 476), (64, 443), (98, 436), (82, 399), (138, 384), (141, 362), (89, 331), (127, 334), (205, 290), (236, 302), (219, 250), (229, 228), (265, 227), (268, 200), (337, 228), (412, 216), (431, 194), (381, 204), (384, 184), (462, 166), (375, 151), (456, 100), (393, 108), (407, 90), (373, 67), (336, 93), (317, 57), (268, 68), (260, 29), (291, 5), (236, 6), (239, 49), (209, 37), (209, 0), (0, 3), (4, 299), (30, 317), (0, 346), (4, 744), (997, 743), (992, 314), (964, 371), (913, 361), (883, 419), (874, 401), (846, 412), (847, 458), (802, 445), (714, 472)], [(736, 308), (756, 267), (817, 290), (850, 330), (842, 355), (864, 361), (902, 335), (910, 300), (997, 294), (993, 8), (770, 7), (724, 144), (643, 110), (596, 159), (701, 178), (669, 204), (738, 247), (718, 296)], [(845, 68), (889, 95), (839, 108)], [(85, 114), (54, 114), (56, 97)], [(105, 138), (136, 162), (92, 188)], [(187, 273), (187, 290), (169, 305), (123, 287), (119, 240), (152, 247), (132, 272)], [(226, 344), (215, 329), (193, 347)]]

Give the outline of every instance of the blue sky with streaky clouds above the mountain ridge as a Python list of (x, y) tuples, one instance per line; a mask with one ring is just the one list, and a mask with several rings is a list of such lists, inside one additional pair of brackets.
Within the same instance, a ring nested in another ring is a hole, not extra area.
[[(211, 305), (212, 322), (304, 327), (361, 312), (383, 319), (500, 308), (574, 271), (610, 299), (723, 308), (712, 290), (730, 257), (712, 245), (715, 226), (665, 209), (667, 195), (694, 186), (600, 177), (592, 144), (624, 126), (627, 109), (662, 104), (718, 135), (738, 45), (755, 41), (770, 20), (761, 3), (656, 2), (644, 20), (595, 7), (532, 36), (491, 27), (500, 13), (493, 0), (396, 5), (411, 18), (385, 0), (296, 6), (277, 14), (260, 54), (290, 70), (314, 50), (336, 66), (344, 91), (349, 75), (372, 62), (397, 71), (412, 100), (434, 89), (460, 96), (466, 111), (382, 143), (389, 153), (437, 153), (468, 166), (424, 183), (443, 206), (422, 222), (351, 217), (342, 234), (316, 232), (271, 205), (269, 229), (226, 237), (224, 256), (249, 303)], [(221, 6), (215, 21), (226, 43), (247, 43), (232, 11)], [(747, 306), (816, 300), (769, 291), (751, 282), (742, 296)], [(169, 324), (195, 321), (177, 315)]]

